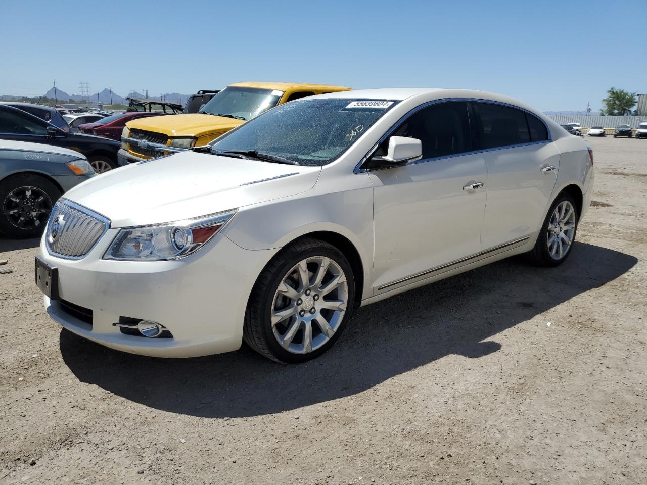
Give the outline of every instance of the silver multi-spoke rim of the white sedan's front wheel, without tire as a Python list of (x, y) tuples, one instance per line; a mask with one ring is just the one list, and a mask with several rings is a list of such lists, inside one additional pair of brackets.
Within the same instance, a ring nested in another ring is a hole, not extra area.
[(338, 263), (313, 256), (283, 276), (272, 301), (274, 338), (294, 354), (313, 352), (340, 327), (348, 304), (348, 283)]

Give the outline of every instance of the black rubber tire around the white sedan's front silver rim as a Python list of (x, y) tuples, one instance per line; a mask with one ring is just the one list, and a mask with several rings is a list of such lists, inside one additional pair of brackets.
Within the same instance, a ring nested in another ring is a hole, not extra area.
[[(296, 354), (281, 347), (272, 332), (270, 314), (274, 305), (274, 294), (283, 281), (283, 277), (303, 259), (314, 256), (325, 256), (333, 259), (344, 272), (347, 281), (347, 306), (342, 321), (334, 334), (318, 349), (308, 353)], [(355, 301), (355, 278), (348, 260), (332, 244), (318, 239), (305, 238), (286, 246), (270, 263), (265, 266), (250, 295), (243, 339), (259, 354), (280, 363), (302, 363), (323, 354), (330, 349), (344, 331)]]

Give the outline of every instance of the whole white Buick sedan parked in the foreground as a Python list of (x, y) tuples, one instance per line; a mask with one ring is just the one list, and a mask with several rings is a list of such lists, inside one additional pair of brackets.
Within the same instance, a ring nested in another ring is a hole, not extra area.
[(505, 96), (335, 92), (72, 189), (36, 280), (52, 319), (113, 349), (245, 340), (298, 363), (360, 305), (520, 253), (564, 262), (592, 180), (585, 142)]

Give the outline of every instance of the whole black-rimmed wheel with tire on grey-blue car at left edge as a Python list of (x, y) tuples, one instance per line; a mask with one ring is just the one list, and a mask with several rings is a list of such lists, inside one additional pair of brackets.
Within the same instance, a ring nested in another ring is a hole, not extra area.
[(0, 232), (14, 239), (43, 233), (61, 192), (46, 178), (18, 174), (0, 182)]

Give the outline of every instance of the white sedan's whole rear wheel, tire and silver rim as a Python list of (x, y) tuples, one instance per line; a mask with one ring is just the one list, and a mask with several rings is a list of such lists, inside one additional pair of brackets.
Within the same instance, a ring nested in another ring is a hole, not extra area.
[(536, 266), (557, 266), (564, 263), (573, 250), (579, 214), (575, 200), (562, 192), (551, 205), (542, 230), (528, 256)]

